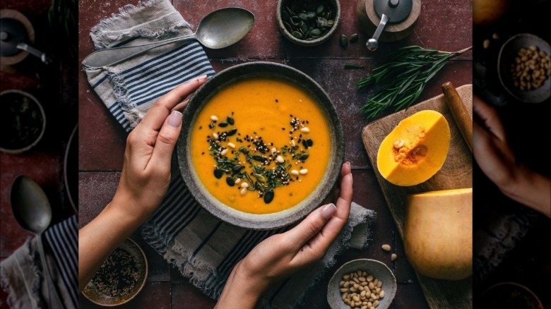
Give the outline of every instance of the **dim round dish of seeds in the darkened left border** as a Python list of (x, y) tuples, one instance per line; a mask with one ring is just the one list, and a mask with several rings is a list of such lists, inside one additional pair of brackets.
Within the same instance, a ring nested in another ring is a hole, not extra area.
[(0, 151), (18, 154), (35, 147), (46, 130), (46, 114), (27, 92), (0, 93)]

